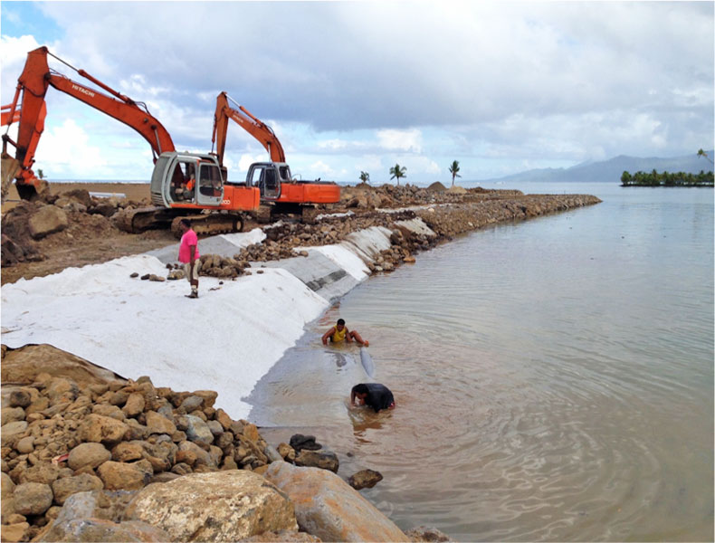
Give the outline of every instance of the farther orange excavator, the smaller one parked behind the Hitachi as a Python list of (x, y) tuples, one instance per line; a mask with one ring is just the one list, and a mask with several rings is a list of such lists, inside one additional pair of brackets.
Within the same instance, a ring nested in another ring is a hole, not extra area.
[[(235, 108), (229, 105), (234, 102)], [(218, 163), (224, 165), (228, 119), (234, 120), (244, 130), (261, 142), (268, 151), (271, 162), (256, 162), (248, 168), (246, 185), (258, 186), (261, 202), (271, 206), (271, 214), (315, 214), (317, 204), (335, 204), (340, 201), (340, 187), (331, 181), (301, 181), (291, 177), (291, 167), (286, 164), (285, 153), (275, 133), (249, 110), (232, 100), (225, 92), (216, 98), (214, 133)]]

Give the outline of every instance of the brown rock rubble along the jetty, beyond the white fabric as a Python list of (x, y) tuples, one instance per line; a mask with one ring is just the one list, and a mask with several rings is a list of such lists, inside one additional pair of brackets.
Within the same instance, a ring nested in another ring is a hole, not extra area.
[[(404, 262), (415, 262), (415, 253), (429, 250), (456, 235), (491, 224), (525, 220), (600, 202), (592, 195), (522, 195), (519, 191), (483, 189), (439, 192), (415, 186), (383, 186), (374, 192), (369, 189), (363, 190), (364, 194), (357, 192), (358, 195), (344, 192), (348, 204), (356, 202), (357, 198), (357, 213), (326, 215), (318, 224), (281, 222), (266, 226), (263, 229), (266, 239), (234, 254), (233, 259), (222, 260), (216, 255), (202, 255), (202, 262), (206, 258), (209, 265), (204, 263), (201, 273), (215, 277), (237, 277), (246, 271), (249, 262), (308, 256), (301, 247), (340, 243), (348, 234), (372, 226), (383, 226), (390, 230), (392, 245), (381, 252), (376, 262), (368, 262), (367, 266), (373, 272), (393, 271)], [(421, 207), (403, 208), (389, 213), (368, 209), (370, 200), (361, 198), (363, 195), (376, 194), (381, 195), (381, 204)], [(403, 225), (415, 219), (426, 224), (432, 233), (419, 233), (415, 228)]]

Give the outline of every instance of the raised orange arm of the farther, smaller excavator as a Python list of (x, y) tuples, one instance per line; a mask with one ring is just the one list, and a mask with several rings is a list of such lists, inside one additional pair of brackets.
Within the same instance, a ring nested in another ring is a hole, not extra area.
[[(216, 97), (216, 111), (214, 115), (214, 134), (211, 137), (212, 145), (215, 144), (216, 156), (219, 164), (224, 166), (224, 150), (226, 148), (226, 132), (228, 130), (228, 119), (233, 119), (241, 127), (261, 142), (261, 145), (268, 151), (273, 162), (285, 162), (285, 153), (281, 142), (276, 137), (271, 127), (257, 119), (243, 106), (236, 104), (238, 109), (232, 108), (228, 100), (229, 96), (222, 92)], [(234, 101), (234, 100), (232, 100)], [(235, 102), (234, 102), (235, 103)]]

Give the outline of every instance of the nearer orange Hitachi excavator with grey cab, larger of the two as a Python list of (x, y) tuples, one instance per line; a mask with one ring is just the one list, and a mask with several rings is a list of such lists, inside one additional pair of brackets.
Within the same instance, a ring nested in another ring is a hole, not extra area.
[[(51, 70), (48, 55), (109, 95)], [(176, 231), (178, 221), (189, 217), (196, 233), (234, 232), (243, 228), (243, 212), (258, 209), (258, 188), (227, 183), (225, 169), (213, 155), (176, 151), (167, 129), (149, 113), (146, 104), (131, 100), (84, 70), (77, 70), (47, 47), (27, 53), (13, 103), (3, 108), (3, 124), (7, 120), (9, 128), (13, 121), (18, 123), (16, 142), (6, 132), (3, 135), (3, 169), (5, 171), (5, 160), (13, 159), (7, 153), (9, 144), (14, 147), (14, 160), (19, 163), (19, 172), (14, 178), (22, 198), (32, 199), (37, 195), (32, 166), (44, 129), (44, 97), (51, 86), (128, 125), (148, 141), (155, 164), (150, 186), (153, 205), (120, 212), (118, 225), (123, 230), (141, 232), (171, 225)]]

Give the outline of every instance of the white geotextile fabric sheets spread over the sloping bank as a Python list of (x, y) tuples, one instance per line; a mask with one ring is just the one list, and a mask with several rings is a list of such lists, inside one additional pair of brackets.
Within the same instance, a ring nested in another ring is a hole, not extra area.
[[(364, 281), (365, 262), (389, 248), (389, 236), (386, 228), (372, 227), (310, 250)], [(243, 244), (264, 234), (225, 237)], [(253, 270), (222, 285), (202, 277), (197, 300), (186, 299), (186, 280), (141, 281), (129, 277), (134, 271), (167, 274), (157, 257), (142, 254), (5, 284), (2, 342), (10, 348), (48, 343), (121, 376), (150, 376), (176, 391), (215, 390), (216, 406), (237, 419), (251, 410), (242, 398), (295, 345), (305, 324), (329, 307), (281, 268)]]

